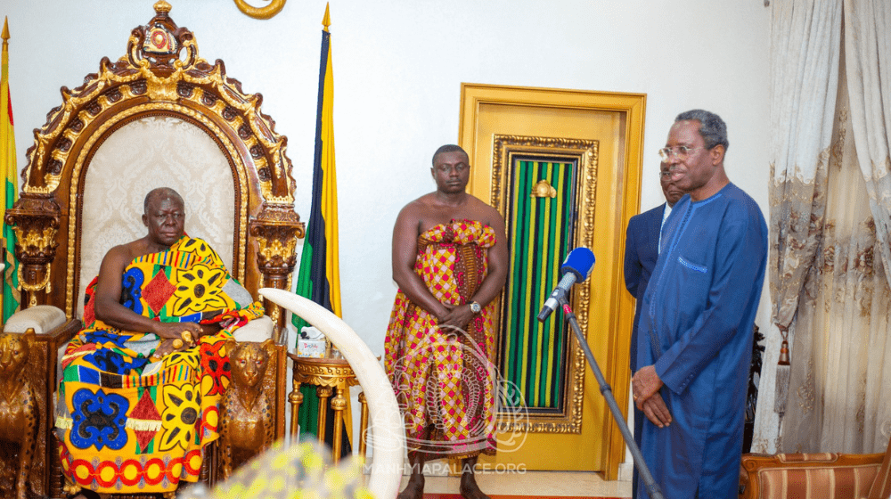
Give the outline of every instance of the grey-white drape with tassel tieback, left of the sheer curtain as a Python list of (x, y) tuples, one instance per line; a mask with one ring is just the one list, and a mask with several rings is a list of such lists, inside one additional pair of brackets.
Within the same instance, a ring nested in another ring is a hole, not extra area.
[(782, 341), (792, 344), (798, 296), (822, 233), (842, 5), (841, 0), (781, 0), (771, 8), (772, 326), (766, 333), (752, 443), (752, 452), (764, 453), (775, 453), (779, 446), (786, 404), (775, 388), (787, 386), (777, 387), (777, 361)]

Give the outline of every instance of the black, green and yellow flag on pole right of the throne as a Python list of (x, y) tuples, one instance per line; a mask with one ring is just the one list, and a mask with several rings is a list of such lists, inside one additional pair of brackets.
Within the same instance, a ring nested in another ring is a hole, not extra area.
[[(334, 76), (331, 72), (331, 17), (328, 6), (322, 20), (322, 61), (319, 68), (319, 101), (315, 117), (315, 157), (313, 160), (313, 200), (309, 209), (307, 238), (300, 254), (297, 294), (315, 301), (340, 316), (340, 266), (337, 225), (337, 175), (334, 173)], [(308, 325), (294, 316), (291, 322), (300, 329)], [(304, 395), (300, 406), (300, 432), (316, 434), (319, 399), (315, 387), (301, 387)], [(329, 410), (330, 408), (325, 408)], [(326, 421), (334, 421), (329, 413)], [(344, 413), (344, 432), (341, 454), (349, 454), (352, 418), (349, 398)], [(326, 428), (325, 441), (331, 445), (333, 424)]]

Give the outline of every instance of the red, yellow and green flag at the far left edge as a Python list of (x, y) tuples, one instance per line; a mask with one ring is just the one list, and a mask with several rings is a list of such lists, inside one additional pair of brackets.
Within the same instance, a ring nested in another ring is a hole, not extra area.
[(16, 183), (15, 135), (12, 133), (12, 98), (9, 95), (9, 23), (3, 25), (3, 75), (0, 78), (0, 209), (3, 209), (4, 248), (0, 258), (5, 264), (3, 270), (3, 322), (19, 309), (19, 262), (15, 259), (15, 233), (6, 225), (6, 210), (12, 208), (19, 188)]

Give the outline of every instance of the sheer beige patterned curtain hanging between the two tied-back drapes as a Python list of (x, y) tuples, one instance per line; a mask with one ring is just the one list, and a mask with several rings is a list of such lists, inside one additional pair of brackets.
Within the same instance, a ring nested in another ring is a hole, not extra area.
[(842, 78), (825, 223), (799, 300), (781, 438), (787, 452), (874, 453), (887, 446), (889, 410), (882, 395), (889, 385), (877, 366), (891, 366), (891, 290), (864, 195), (848, 102)]

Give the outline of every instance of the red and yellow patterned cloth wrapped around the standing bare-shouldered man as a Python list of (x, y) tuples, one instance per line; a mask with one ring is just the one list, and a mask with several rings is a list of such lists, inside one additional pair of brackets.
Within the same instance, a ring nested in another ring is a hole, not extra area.
[[(452, 220), (418, 237), (414, 270), (440, 302), (466, 305), (486, 278), (494, 245), (492, 227)], [(440, 329), (435, 315), (396, 292), (384, 365), (410, 450), (428, 459), (495, 454), (494, 315), (490, 303), (467, 331)]]

